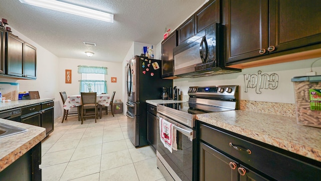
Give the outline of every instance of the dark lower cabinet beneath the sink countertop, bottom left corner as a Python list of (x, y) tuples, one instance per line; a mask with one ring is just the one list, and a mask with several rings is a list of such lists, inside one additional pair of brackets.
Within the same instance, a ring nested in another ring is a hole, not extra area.
[(41, 164), (41, 142), (1, 171), (0, 180), (42, 180), (42, 172), (39, 164)]

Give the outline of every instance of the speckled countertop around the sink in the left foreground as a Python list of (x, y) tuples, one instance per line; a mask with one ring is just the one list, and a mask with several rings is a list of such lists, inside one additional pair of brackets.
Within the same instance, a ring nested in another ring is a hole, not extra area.
[(7, 168), (46, 137), (46, 129), (29, 124), (0, 119), (0, 123), (28, 129), (27, 132), (0, 138), (0, 171)]

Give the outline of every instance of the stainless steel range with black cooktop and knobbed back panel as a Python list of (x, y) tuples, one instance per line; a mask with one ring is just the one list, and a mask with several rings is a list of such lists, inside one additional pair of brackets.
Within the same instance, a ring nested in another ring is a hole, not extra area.
[[(195, 120), (198, 114), (231, 111), (239, 109), (239, 86), (192, 86), (188, 91), (189, 101), (185, 103), (158, 104), (157, 118), (174, 124), (177, 131), (177, 151), (171, 153), (160, 138), (157, 123), (157, 167), (166, 180), (196, 180)], [(158, 120), (159, 121), (159, 120)]]

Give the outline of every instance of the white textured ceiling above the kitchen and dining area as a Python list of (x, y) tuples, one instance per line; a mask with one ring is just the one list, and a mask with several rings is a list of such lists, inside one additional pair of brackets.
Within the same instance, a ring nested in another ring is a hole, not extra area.
[[(0, 18), (58, 57), (122, 62), (132, 42), (156, 45), (205, 0), (66, 0), (114, 14), (114, 23), (1, 0)], [(15, 32), (13, 32), (15, 34)], [(83, 42), (96, 43), (87, 46)], [(95, 53), (87, 57), (85, 51)]]

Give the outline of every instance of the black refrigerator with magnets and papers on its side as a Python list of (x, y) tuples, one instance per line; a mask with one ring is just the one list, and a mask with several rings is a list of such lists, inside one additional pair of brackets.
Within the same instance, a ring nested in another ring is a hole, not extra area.
[(134, 56), (126, 65), (127, 132), (135, 147), (147, 145), (146, 100), (161, 99), (162, 87), (173, 80), (162, 79), (161, 60)]

